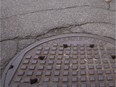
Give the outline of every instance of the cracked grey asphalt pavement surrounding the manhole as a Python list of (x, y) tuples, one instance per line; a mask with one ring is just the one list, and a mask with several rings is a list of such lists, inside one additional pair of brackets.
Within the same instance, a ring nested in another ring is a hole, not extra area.
[(2, 70), (28, 45), (62, 33), (115, 37), (115, 0), (1, 0)]

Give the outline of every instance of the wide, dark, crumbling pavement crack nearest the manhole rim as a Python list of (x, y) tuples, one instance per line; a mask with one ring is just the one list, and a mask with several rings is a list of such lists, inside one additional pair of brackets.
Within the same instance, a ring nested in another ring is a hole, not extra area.
[[(59, 26), (59, 27), (55, 27), (55, 28), (52, 28), (52, 29), (48, 29), (46, 30), (44, 33), (42, 34), (39, 34), (39, 35), (36, 35), (36, 36), (31, 36), (31, 35), (28, 35), (28, 36), (25, 36), (25, 37), (14, 37), (14, 38), (9, 38), (9, 39), (4, 39), (4, 40), (0, 40), (0, 42), (3, 42), (3, 41), (7, 41), (7, 40), (23, 40), (23, 39), (37, 39), (38, 37), (41, 37), (41, 36), (44, 36), (46, 35), (47, 33), (50, 33), (50, 32), (54, 32), (55, 30), (58, 30), (58, 29), (64, 29), (64, 28), (72, 28), (72, 27), (81, 27), (83, 25), (86, 25), (86, 24), (109, 24), (109, 25), (112, 25), (112, 26), (115, 26), (115, 24), (112, 24), (112, 23), (108, 23), (108, 22), (86, 22), (86, 23), (81, 23), (81, 24), (71, 24), (71, 25), (67, 25), (67, 26)], [(70, 31), (71, 32), (71, 31)], [(84, 31), (86, 32), (86, 31)]]

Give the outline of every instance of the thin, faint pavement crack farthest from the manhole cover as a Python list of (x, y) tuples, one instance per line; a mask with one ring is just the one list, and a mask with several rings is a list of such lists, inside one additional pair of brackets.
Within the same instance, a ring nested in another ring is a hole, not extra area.
[(111, 12), (115, 12), (115, 10), (111, 10), (107, 8), (101, 8), (101, 7), (95, 7), (95, 6), (89, 6), (89, 5), (82, 5), (82, 6), (70, 6), (70, 7), (64, 7), (64, 8), (55, 8), (55, 9), (46, 9), (46, 10), (37, 10), (37, 11), (32, 11), (32, 12), (27, 12), (27, 13), (22, 13), (22, 14), (16, 14), (16, 15), (11, 15), (11, 16), (8, 16), (8, 17), (3, 17), (3, 18), (0, 18), (0, 19), (7, 19), (7, 18), (11, 18), (11, 17), (14, 17), (14, 16), (20, 16), (20, 15), (26, 15), (26, 14), (31, 14), (31, 13), (39, 13), (39, 12), (45, 12), (45, 11), (58, 11), (58, 10), (65, 10), (65, 9), (72, 9), (72, 8), (85, 8), (85, 7), (89, 7), (89, 8), (97, 8), (97, 9), (102, 9), (102, 10), (108, 10), (108, 11), (111, 11)]

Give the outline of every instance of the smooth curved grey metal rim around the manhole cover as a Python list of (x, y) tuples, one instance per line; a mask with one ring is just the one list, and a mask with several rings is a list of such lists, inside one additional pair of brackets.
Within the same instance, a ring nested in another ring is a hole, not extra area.
[[(2, 75), (2, 85), (3, 85), (3, 87), (4, 87), (4, 85), (5, 85), (5, 87), (8, 87), (7, 83), (9, 83), (9, 82), (5, 81), (6, 80), (6, 75), (7, 75), (8, 71), (9, 71), (10, 65), (12, 65), (14, 61), (17, 61), (18, 57), (20, 57), (19, 59), (22, 60), (22, 58), (25, 55), (25, 53), (28, 52), (29, 50), (31, 50), (32, 48), (36, 47), (37, 45), (40, 45), (40, 44), (45, 43), (47, 41), (51, 41), (51, 40), (58, 39), (58, 38), (65, 38), (65, 37), (89, 37), (89, 38), (99, 39), (99, 40), (103, 40), (105, 42), (109, 42), (109, 43), (115, 44), (115, 40), (113, 40), (111, 38), (107, 38), (107, 37), (103, 37), (103, 36), (98, 36), (98, 35), (95, 35), (95, 34), (82, 34), (82, 33), (77, 33), (77, 34), (62, 34), (62, 35), (58, 35), (58, 36), (53, 36), (53, 37), (42, 39), (42, 40), (37, 41), (37, 42), (31, 44), (30, 46), (24, 48), (21, 52), (19, 52), (8, 63), (8, 65), (6, 66), (6, 68), (5, 68), (4, 72), (3, 72), (3, 75)], [(17, 66), (15, 66), (15, 68), (17, 68), (18, 66), (19, 66), (19, 64), (17, 64)], [(14, 69), (14, 72), (15, 72), (15, 69)]]

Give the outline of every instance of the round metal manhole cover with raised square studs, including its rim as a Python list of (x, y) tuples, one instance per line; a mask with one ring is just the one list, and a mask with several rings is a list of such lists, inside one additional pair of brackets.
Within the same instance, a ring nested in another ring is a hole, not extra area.
[(38, 41), (11, 60), (3, 87), (115, 87), (115, 41), (65, 34)]

